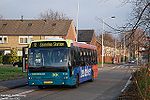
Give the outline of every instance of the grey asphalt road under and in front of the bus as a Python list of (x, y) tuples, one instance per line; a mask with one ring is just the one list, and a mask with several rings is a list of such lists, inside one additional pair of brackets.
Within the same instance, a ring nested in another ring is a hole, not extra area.
[(99, 69), (94, 82), (85, 82), (79, 88), (57, 86), (38, 89), (20, 87), (0, 93), (0, 100), (116, 100), (124, 89), (134, 65), (115, 65)]

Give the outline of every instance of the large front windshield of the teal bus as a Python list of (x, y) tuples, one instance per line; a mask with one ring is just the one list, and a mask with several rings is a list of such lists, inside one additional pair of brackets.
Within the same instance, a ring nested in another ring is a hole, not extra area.
[(66, 47), (29, 49), (29, 67), (68, 66), (69, 50)]

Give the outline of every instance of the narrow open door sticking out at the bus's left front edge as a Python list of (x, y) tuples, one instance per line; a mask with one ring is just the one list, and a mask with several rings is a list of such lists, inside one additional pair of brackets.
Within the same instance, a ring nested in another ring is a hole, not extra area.
[(27, 72), (28, 69), (28, 47), (22, 48), (22, 71)]

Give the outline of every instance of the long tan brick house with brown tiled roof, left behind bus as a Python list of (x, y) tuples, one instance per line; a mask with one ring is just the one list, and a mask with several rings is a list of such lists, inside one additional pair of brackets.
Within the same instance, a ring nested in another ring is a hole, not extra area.
[(72, 20), (0, 20), (0, 52), (10, 53), (17, 48), (18, 56), (22, 47), (33, 40), (48, 38), (76, 40), (76, 31)]

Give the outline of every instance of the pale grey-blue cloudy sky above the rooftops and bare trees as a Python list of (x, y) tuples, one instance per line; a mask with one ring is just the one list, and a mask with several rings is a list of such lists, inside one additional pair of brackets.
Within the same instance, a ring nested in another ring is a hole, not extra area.
[[(102, 30), (102, 18), (113, 27), (127, 23), (131, 5), (122, 6), (124, 0), (79, 0), (79, 29), (95, 29), (97, 34)], [(63, 12), (74, 20), (76, 25), (78, 0), (0, 0), (0, 15), (7, 19), (39, 18), (41, 12), (48, 9)], [(111, 19), (115, 16), (115, 19)], [(107, 27), (105, 26), (105, 29)], [(109, 29), (107, 29), (109, 30)]]

